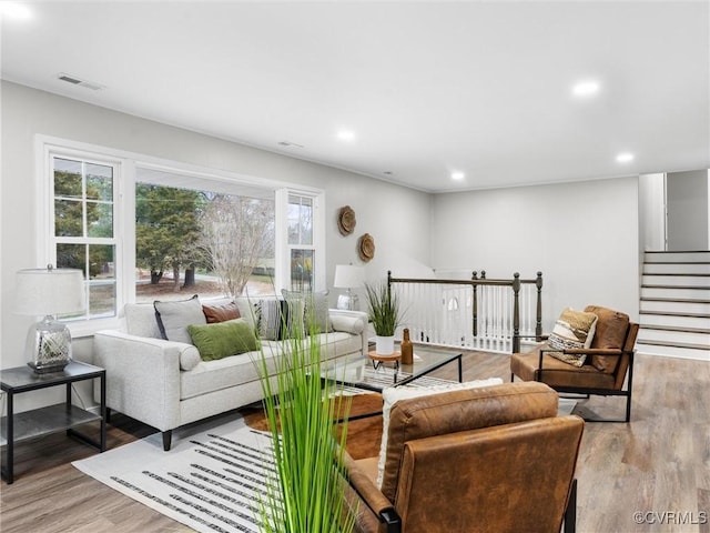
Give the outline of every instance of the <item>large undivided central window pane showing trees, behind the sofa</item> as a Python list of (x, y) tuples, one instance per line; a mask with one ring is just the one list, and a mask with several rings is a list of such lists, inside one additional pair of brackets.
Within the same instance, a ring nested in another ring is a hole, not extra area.
[(142, 168), (136, 180), (138, 302), (274, 293), (273, 190)]

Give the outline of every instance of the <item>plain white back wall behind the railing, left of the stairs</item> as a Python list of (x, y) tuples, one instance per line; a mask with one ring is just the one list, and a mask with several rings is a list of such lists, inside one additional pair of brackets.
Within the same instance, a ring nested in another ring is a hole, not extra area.
[(565, 306), (605, 305), (638, 320), (637, 182), (436, 195), (433, 266), (485, 270), (488, 278), (541, 271), (546, 332)]

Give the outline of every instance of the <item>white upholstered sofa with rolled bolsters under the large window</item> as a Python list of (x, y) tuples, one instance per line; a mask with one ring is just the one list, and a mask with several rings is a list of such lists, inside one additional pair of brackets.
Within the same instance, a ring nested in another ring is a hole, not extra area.
[[(242, 318), (257, 326), (250, 312), (253, 304), (236, 302)], [(332, 331), (317, 334), (322, 360), (362, 362), (367, 356), (367, 315), (327, 312)], [(262, 353), (273, 358), (283, 348), (282, 341), (261, 340), (261, 351), (202, 361), (194, 345), (163, 339), (152, 304), (128, 304), (122, 319), (120, 330), (94, 335), (94, 363), (106, 370), (106, 406), (160, 430), (166, 451), (173, 429), (261, 400), (255, 362), (261, 364)]]

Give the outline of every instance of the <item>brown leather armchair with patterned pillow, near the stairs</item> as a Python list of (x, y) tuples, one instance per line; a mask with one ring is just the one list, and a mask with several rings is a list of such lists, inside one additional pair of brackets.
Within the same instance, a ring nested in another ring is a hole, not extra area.
[[(517, 375), (523, 381), (539, 381), (557, 392), (605, 396), (626, 396), (625, 420), (596, 420), (598, 422), (629, 422), (633, 384), (633, 345), (639, 325), (629, 315), (598, 305), (588, 305), (586, 312), (598, 316), (597, 329), (589, 349), (567, 349), (565, 354), (587, 358), (575, 366), (550, 355), (559, 352), (542, 345), (528, 353), (514, 353), (510, 358), (510, 381)], [(627, 380), (628, 375), (628, 380)], [(625, 386), (626, 384), (626, 386)], [(592, 421), (592, 419), (588, 419)]]

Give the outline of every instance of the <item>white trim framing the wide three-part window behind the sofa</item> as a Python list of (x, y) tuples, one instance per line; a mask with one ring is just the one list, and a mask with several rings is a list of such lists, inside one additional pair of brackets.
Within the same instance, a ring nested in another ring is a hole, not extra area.
[[(72, 336), (90, 336), (99, 330), (114, 329), (120, 325), (122, 310), (126, 303), (135, 301), (135, 224), (134, 217), (128, 213), (135, 212), (135, 178), (136, 169), (154, 169), (164, 172), (176, 172), (197, 178), (206, 178), (214, 181), (239, 182), (246, 185), (254, 185), (261, 189), (275, 191), (276, 220), (275, 220), (275, 270), (278, 284), (290, 282), (288, 235), (286, 231), (286, 209), (288, 194), (302, 194), (313, 198), (313, 224), (314, 224), (314, 248), (316, 253), (316, 279), (315, 290), (324, 290), (326, 286), (326, 250), (325, 250), (325, 191), (318, 188), (304, 187), (287, 181), (256, 178), (248, 174), (213, 169), (209, 167), (185, 163), (181, 161), (166, 160), (152, 155), (119, 150), (81, 141), (61, 139), (52, 135), (38, 134), (34, 138), (34, 189), (36, 198), (40, 199), (36, 209), (36, 239), (34, 263), (38, 265), (48, 264), (54, 255), (52, 240), (49, 228), (50, 217), (53, 214), (53, 199), (50, 198), (51, 187), (48, 177), (51, 175), (49, 169), (50, 153), (59, 152), (65, 155), (92, 159), (97, 161), (118, 163), (120, 165), (120, 177), (114, 188), (116, 197), (114, 202), (118, 205), (114, 212), (114, 232), (116, 239), (116, 316), (82, 320), (79, 322), (68, 322)], [(280, 203), (282, 202), (282, 203)], [(278, 209), (278, 207), (282, 209)], [(119, 268), (121, 269), (119, 271)], [(283, 286), (277, 286), (281, 293)]]

